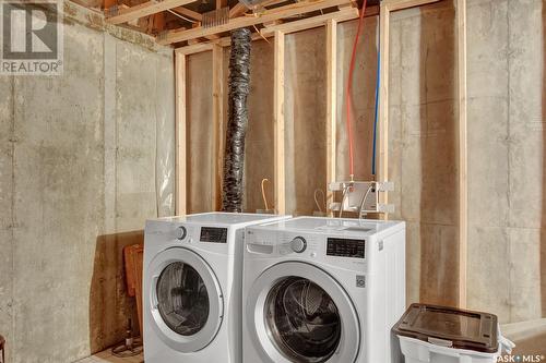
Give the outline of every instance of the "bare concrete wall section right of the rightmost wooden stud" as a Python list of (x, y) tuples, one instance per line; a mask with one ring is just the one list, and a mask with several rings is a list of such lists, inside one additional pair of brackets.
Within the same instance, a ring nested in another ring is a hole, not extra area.
[[(468, 7), (468, 303), (546, 316), (546, 4)], [(487, 258), (486, 258), (487, 257)]]

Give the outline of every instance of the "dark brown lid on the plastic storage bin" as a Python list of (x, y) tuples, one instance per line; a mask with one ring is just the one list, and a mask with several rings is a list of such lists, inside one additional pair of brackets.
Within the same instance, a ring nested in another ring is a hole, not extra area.
[(455, 349), (495, 353), (499, 348), (496, 315), (455, 307), (412, 304), (392, 330)]

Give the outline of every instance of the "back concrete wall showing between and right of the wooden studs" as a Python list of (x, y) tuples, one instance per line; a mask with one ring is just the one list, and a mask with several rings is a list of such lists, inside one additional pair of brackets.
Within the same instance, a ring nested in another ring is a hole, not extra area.
[[(542, 0), (467, 0), (467, 14), (468, 307), (496, 313), (501, 323), (532, 320), (546, 316), (546, 5)], [(408, 303), (453, 305), (458, 298), (454, 16), (453, 3), (447, 0), (391, 17), (389, 169), (396, 206), (391, 217), (407, 221)], [(337, 31), (340, 179), (348, 173), (344, 88), (355, 28), (353, 21), (340, 24)], [(292, 214), (310, 214), (309, 192), (323, 183), (318, 167), (325, 164), (325, 148), (320, 145), (325, 96), (318, 89), (324, 76), (323, 34), (312, 29), (286, 37), (287, 213)], [(369, 17), (353, 95), (358, 100), (353, 102), (355, 169), (363, 180), (371, 177), (376, 38), (377, 19)], [(273, 45), (263, 40), (253, 45), (248, 210), (262, 207), (259, 182), (273, 172)], [(294, 168), (298, 159), (304, 167)], [(193, 180), (202, 182), (199, 176)]]

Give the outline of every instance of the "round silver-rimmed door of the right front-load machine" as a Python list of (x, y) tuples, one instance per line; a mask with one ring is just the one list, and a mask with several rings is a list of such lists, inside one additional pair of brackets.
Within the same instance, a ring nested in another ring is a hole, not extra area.
[(345, 290), (319, 267), (274, 265), (256, 279), (248, 299), (248, 328), (263, 362), (356, 360), (358, 316)]

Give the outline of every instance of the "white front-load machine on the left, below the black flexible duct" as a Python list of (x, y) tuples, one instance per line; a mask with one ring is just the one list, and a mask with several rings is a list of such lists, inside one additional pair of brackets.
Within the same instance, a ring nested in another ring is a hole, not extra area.
[(146, 221), (146, 363), (240, 363), (245, 227), (274, 215), (207, 213)]

